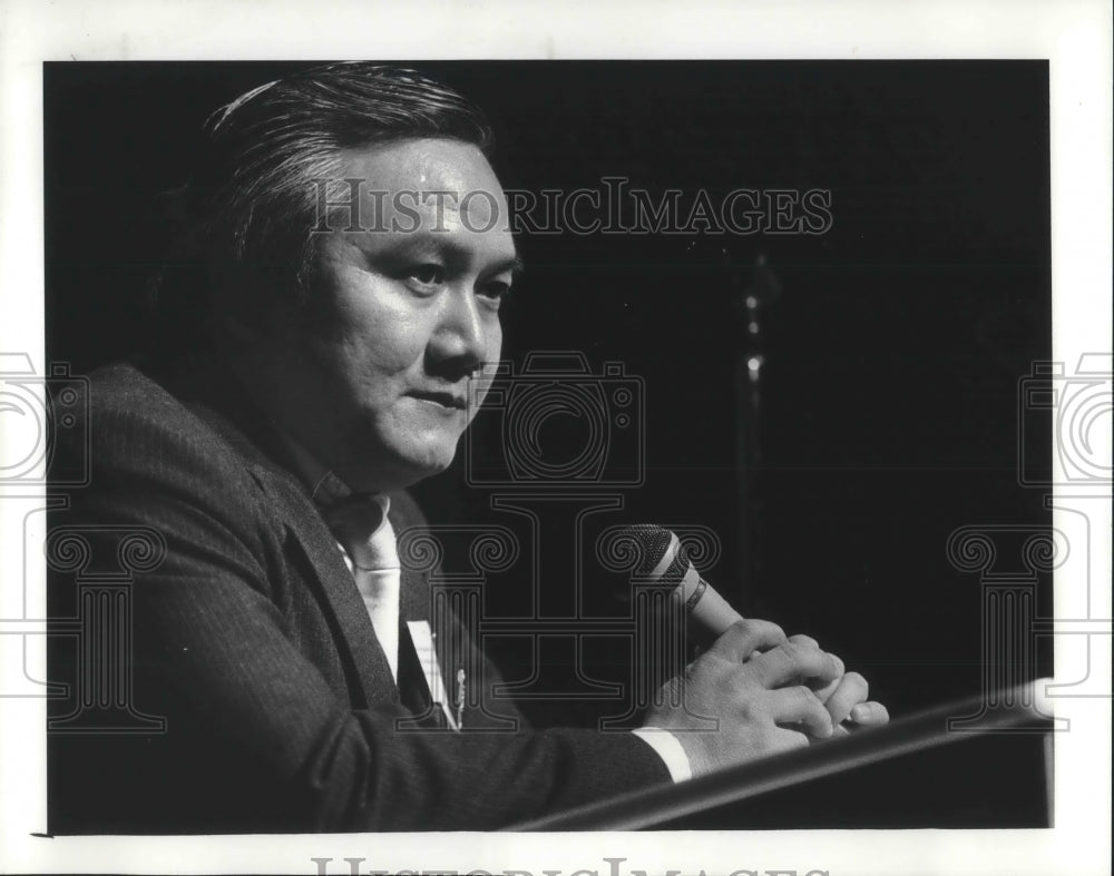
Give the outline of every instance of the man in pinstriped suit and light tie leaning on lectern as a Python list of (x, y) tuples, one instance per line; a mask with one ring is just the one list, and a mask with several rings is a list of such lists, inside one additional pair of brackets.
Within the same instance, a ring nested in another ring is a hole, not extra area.
[(534, 731), (430, 617), (394, 534), (500, 355), (519, 259), (490, 140), (455, 92), (362, 63), (211, 120), (159, 343), (95, 375), (91, 485), (56, 516), (94, 557), (156, 543), (129, 669), (166, 731), (53, 737), (52, 830), (489, 829), (887, 720), (839, 658), (746, 621), (639, 731)]

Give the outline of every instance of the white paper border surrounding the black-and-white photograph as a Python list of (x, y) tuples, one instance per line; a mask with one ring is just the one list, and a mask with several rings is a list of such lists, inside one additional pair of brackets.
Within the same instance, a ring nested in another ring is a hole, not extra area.
[[(47, 60), (1027, 58), (1049, 60), (1054, 358), (1071, 367), (1084, 353), (1111, 352), (1112, 37), (1106, 3), (837, 6), (812, 0), (554, 7), (490, 1), (422, 2), (404, 9), (289, 0), (0, 3), (0, 350), (26, 352), (38, 368), (45, 366), (41, 173)], [(1106, 442), (1108, 453), (1108, 420), (1098, 440)], [(0, 539), (6, 545), (0, 551), (0, 581), (6, 582), (0, 618), (14, 617), (7, 611), (7, 583), (23, 578), (20, 503), (8, 501), (16, 495), (0, 489)], [(1108, 502), (1091, 505), (1091, 531), (1101, 541), (1089, 560), (1097, 584), (1089, 610), (1107, 619), (1108, 628), (1111, 512)], [(12, 550), (14, 545), (19, 550)], [(30, 580), (41, 584), (45, 572)], [(1057, 617), (1071, 604), (1065, 589), (1076, 584), (1057, 574)], [(1095, 638), (1089, 666), (1079, 665), (1081, 653), (1057, 642), (1058, 676), (1098, 673), (1108, 690), (1110, 636)], [(1057, 826), (1046, 830), (709, 831), (687, 838), (667, 833), (352, 834), (198, 841), (33, 836), (46, 825), (46, 703), (0, 699), (0, 872), (313, 874), (317, 869), (312, 858), (329, 857), (333, 874), (346, 873), (344, 858), (353, 857), (364, 859), (361, 873), (587, 869), (612, 876), (613, 867), (623, 874), (1108, 873), (1111, 700), (1054, 702), (1057, 715), (1071, 719), (1071, 731), (1057, 738)], [(613, 865), (608, 859), (623, 860)]]

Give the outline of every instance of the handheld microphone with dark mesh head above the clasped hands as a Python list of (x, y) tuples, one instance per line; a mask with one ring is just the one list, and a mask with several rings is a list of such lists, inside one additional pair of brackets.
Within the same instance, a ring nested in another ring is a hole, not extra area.
[(676, 533), (648, 523), (627, 526), (623, 534), (641, 549), (645, 583), (670, 589), (670, 601), (677, 606), (690, 633), (706, 644), (719, 639), (743, 616), (701, 578)]

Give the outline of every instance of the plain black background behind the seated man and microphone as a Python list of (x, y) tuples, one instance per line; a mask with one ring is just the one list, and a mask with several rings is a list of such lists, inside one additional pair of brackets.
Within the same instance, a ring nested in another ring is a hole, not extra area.
[[(305, 66), (45, 67), (50, 360), (82, 373), (135, 346), (167, 244), (157, 193), (185, 181), (214, 108)], [(821, 236), (522, 236), (527, 272), (506, 311), (505, 357), (576, 350), (597, 373), (622, 362), (644, 380), (645, 484), (619, 491), (624, 509), (608, 523), (717, 531), (723, 554), (706, 573), (719, 589), (744, 614), (840, 653), (895, 715), (977, 692), (981, 591), (948, 562), (948, 535), (967, 524), (1051, 522), (1040, 491), (1017, 479), (1018, 381), (1051, 358), (1047, 65), (410, 66), (485, 108), (508, 188), (600, 188), (616, 175), (652, 193), (831, 190), (834, 223)], [(733, 376), (743, 293), (723, 249), (743, 276), (763, 255), (781, 287), (763, 314), (761, 457), (745, 550)], [(478, 446), (498, 452), (497, 425), (479, 417)], [(543, 446), (555, 457), (583, 441), (583, 423), (550, 427)], [(1030, 436), (1028, 452), (1051, 452), (1040, 439)], [(492, 521), (528, 535), (490, 509), (491, 491), (466, 484), (462, 460), (419, 493), (434, 522)], [(528, 610), (524, 568), (490, 578), (487, 616)], [(590, 585), (587, 563), (580, 573)], [(1051, 591), (1049, 577), (1038, 589), (1046, 614)], [(521, 641), (490, 646), (510, 678), (529, 676)], [(565, 657), (547, 656), (547, 671), (560, 676)], [(587, 659), (595, 671), (609, 658)], [(545, 722), (556, 720), (551, 706), (530, 708)], [(590, 718), (598, 707), (574, 711)], [(987, 766), (986, 751), (969, 750), (950, 766), (911, 769), (922, 784), (978, 785), (975, 803), (956, 808), (941, 803), (947, 795), (905, 816), (866, 806), (873, 815), (862, 819), (1033, 823), (1032, 770)], [(996, 770), (994, 780), (976, 767)], [(907, 768), (876, 775), (876, 799)], [(832, 799), (846, 803), (842, 787)], [(842, 824), (832, 811), (819, 820)]]

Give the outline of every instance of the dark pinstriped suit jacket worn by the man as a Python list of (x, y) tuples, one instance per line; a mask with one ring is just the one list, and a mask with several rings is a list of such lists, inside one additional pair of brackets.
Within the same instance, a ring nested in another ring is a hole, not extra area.
[[(165, 540), (160, 564), (133, 574), (123, 668), (129, 708), (165, 717), (166, 730), (52, 734), (52, 831), (490, 829), (668, 780), (628, 734), (481, 731), (492, 721), (477, 709), (472, 731), (399, 730), (412, 716), (266, 423), (219, 378), (166, 383), (123, 365), (94, 375), (91, 483), (51, 519), (91, 548), (80, 574), (52, 574), (56, 617), (80, 616), (79, 579), (119, 559), (117, 528)], [(85, 452), (66, 437), (82, 426), (59, 434), (57, 453)], [(394, 498), (397, 531), (420, 521)], [(427, 577), (403, 577), (404, 617), (427, 617), (428, 591)], [(51, 675), (72, 672), (76, 653), (53, 646)], [(488, 709), (518, 717), (506, 702)]]

